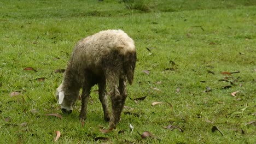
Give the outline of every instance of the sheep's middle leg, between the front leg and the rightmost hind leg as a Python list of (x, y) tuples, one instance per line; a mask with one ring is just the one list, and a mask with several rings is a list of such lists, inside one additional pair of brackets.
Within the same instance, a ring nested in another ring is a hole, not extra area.
[(98, 83), (98, 97), (100, 98), (103, 107), (104, 119), (105, 121), (109, 122), (110, 116), (108, 112), (108, 99), (106, 95), (106, 80)]

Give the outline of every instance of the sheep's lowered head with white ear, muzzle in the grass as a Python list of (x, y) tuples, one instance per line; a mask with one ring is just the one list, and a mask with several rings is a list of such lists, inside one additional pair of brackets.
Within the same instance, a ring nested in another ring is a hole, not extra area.
[(71, 113), (75, 104), (75, 101), (77, 98), (74, 99), (74, 96), (72, 93), (65, 93), (64, 89), (61, 85), (56, 89), (56, 99), (58, 103), (61, 105), (61, 111), (63, 113)]

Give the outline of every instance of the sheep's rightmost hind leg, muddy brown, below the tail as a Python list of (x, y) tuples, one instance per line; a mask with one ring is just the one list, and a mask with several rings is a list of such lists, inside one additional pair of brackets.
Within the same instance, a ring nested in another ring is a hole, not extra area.
[(112, 101), (112, 116), (110, 118), (109, 128), (115, 128), (120, 120), (121, 112), (123, 111), (125, 99), (127, 97), (124, 79), (119, 79), (118, 88), (113, 84), (110, 93)]

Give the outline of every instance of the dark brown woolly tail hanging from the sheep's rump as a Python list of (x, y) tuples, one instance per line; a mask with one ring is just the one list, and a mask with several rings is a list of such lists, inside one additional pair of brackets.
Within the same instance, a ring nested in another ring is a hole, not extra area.
[(133, 75), (134, 75), (136, 61), (137, 61), (136, 51), (126, 53), (124, 57), (124, 71), (126, 73), (126, 77), (130, 85), (132, 85), (132, 82), (133, 82)]

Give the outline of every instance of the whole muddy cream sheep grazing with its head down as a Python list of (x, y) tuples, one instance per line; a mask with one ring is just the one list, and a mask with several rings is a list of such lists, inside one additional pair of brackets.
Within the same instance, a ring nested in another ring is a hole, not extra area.
[[(82, 88), (79, 119), (83, 121), (91, 87), (97, 84), (104, 119), (109, 122), (109, 129), (116, 128), (127, 97), (126, 80), (132, 85), (136, 59), (134, 41), (120, 29), (101, 31), (80, 40), (74, 47), (63, 81), (56, 89), (56, 99), (62, 112), (72, 112)], [(112, 103), (111, 115), (108, 111), (107, 86)]]

